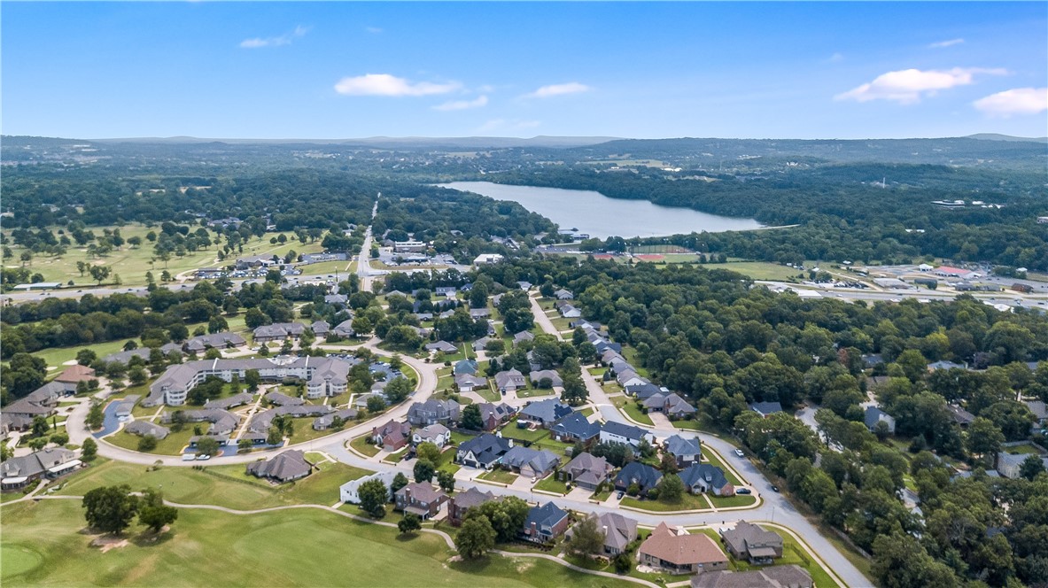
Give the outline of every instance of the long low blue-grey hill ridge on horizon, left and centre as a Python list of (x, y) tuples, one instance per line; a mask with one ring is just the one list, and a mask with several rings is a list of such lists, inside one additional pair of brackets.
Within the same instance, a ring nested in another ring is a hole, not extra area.
[(225, 143), (230, 145), (359, 145), (376, 148), (459, 148), (459, 149), (505, 149), (510, 147), (584, 147), (616, 140), (617, 137), (575, 137), (534, 136), (525, 137), (363, 137), (337, 139), (311, 138), (200, 138), (192, 136), (173, 137), (127, 137), (99, 138), (96, 143), (151, 143), (151, 144), (196, 144)]

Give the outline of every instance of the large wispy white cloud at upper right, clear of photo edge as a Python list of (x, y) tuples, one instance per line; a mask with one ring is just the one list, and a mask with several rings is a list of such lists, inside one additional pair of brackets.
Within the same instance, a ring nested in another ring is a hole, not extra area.
[(899, 104), (915, 104), (920, 102), (923, 95), (934, 95), (939, 90), (974, 84), (977, 74), (1005, 75), (1007, 73), (1005, 69), (981, 67), (902, 69), (882, 73), (873, 82), (837, 94), (834, 100), (854, 100), (856, 102), (890, 100)]

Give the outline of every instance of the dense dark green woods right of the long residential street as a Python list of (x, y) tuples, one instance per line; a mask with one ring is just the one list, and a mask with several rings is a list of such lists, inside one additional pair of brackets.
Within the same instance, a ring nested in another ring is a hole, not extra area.
[[(1040, 460), (1031, 460), (1029, 479), (982, 474), (1002, 443), (1045, 441), (1031, 436), (1033, 416), (1017, 401), (1048, 399), (1048, 363), (1026, 364), (1048, 358), (1043, 314), (1000, 312), (967, 296), (872, 306), (808, 301), (689, 266), (542, 259), (480, 273), (503, 285), (529, 280), (574, 291), (584, 317), (633, 346), (654, 380), (696, 401), (712, 424), (736, 431), (807, 507), (871, 551), (885, 585), (1048, 581), (1048, 520), (1035, 498), (1048, 476), (1032, 480)], [(870, 354), (882, 358), (872, 371)], [(938, 360), (988, 369), (930, 372)], [(909, 451), (863, 422), (868, 391), (896, 417)], [(787, 411), (818, 404), (823, 439), (788, 413), (760, 418), (747, 410), (752, 401)], [(959, 422), (951, 406), (974, 421)], [(923, 518), (900, 500), (908, 477)]]

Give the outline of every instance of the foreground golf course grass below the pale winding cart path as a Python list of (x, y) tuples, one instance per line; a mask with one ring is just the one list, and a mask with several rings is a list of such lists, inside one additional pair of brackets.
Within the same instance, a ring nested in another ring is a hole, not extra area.
[(453, 551), (435, 535), (401, 539), (396, 529), (319, 509), (237, 516), (182, 508), (158, 541), (133, 528), (126, 546), (106, 553), (81, 532), (79, 500), (5, 506), (3, 515), (4, 586), (626, 585), (541, 560), (450, 562)]

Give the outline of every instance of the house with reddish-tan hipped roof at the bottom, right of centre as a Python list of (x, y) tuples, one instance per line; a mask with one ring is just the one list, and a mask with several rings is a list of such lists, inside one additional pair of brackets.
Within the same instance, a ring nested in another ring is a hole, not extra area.
[(705, 535), (691, 535), (659, 523), (637, 549), (642, 565), (670, 573), (696, 573), (727, 569), (727, 556)]

